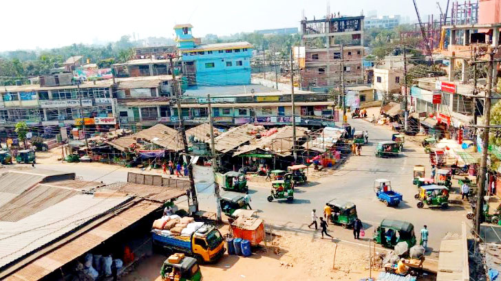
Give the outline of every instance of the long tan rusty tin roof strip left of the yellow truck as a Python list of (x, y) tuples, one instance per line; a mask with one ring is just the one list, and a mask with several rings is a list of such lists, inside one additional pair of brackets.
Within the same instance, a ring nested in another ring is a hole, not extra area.
[(22, 267), (10, 276), (7, 276), (4, 280), (40, 280), (52, 271), (55, 271), (56, 269), (59, 269), (63, 265), (67, 264), (67, 262), (70, 262), (75, 258), (82, 256), (94, 247), (97, 247), (112, 235), (120, 232), (126, 227), (129, 227), (129, 225), (132, 225), (144, 216), (147, 216), (151, 212), (157, 210), (160, 206), (160, 203), (140, 201), (139, 203), (123, 210), (120, 214), (112, 216), (104, 223), (90, 229), (88, 232), (85, 232), (85, 234), (70, 240), (70, 242), (65, 243), (61, 247), (57, 247), (53, 251), (50, 251), (33, 262), (30, 262), (25, 267)]

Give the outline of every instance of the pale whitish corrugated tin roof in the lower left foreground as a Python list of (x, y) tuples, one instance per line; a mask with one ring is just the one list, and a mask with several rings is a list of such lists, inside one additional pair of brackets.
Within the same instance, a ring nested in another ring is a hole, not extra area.
[(0, 271), (129, 199), (77, 194), (15, 223), (0, 221)]

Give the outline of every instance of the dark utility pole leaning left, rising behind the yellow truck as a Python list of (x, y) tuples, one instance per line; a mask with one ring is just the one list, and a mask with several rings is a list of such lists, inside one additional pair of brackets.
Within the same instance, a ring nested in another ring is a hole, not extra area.
[(184, 155), (186, 155), (186, 161), (188, 166), (188, 176), (190, 179), (190, 189), (191, 189), (191, 202), (195, 205), (195, 212), (198, 212), (198, 199), (197, 199), (197, 190), (195, 188), (195, 180), (193, 179), (193, 166), (191, 166), (191, 157), (188, 155), (188, 142), (186, 141), (186, 131), (184, 131), (184, 120), (182, 120), (182, 110), (181, 110), (181, 94), (180, 87), (178, 87), (178, 81), (175, 80), (175, 72), (174, 72), (174, 63), (172, 61), (172, 56), (169, 57), (169, 63), (171, 65), (172, 72), (172, 82), (173, 87), (172, 91), (175, 93), (175, 101), (178, 104), (178, 118), (179, 118), (179, 127), (181, 130), (181, 138), (182, 145), (184, 147)]

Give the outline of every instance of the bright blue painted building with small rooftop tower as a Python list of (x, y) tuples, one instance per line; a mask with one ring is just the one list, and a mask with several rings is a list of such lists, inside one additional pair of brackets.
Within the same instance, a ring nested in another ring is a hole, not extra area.
[(198, 44), (190, 24), (175, 25), (175, 41), (189, 85), (251, 84), (253, 45), (248, 42)]

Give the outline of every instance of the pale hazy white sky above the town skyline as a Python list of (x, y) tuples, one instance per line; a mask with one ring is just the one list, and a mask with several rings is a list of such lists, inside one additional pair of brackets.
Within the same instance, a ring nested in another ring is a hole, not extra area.
[[(420, 14), (438, 14), (436, 0), (417, 0)], [(439, 0), (443, 9), (447, 0)], [(124, 34), (173, 37), (176, 23), (191, 23), (193, 35), (228, 35), (268, 28), (299, 27), (323, 17), (328, 0), (1, 0), (0, 51), (116, 41)], [(412, 0), (330, 0), (331, 12), (416, 19)], [(427, 17), (426, 17), (427, 18)]]

